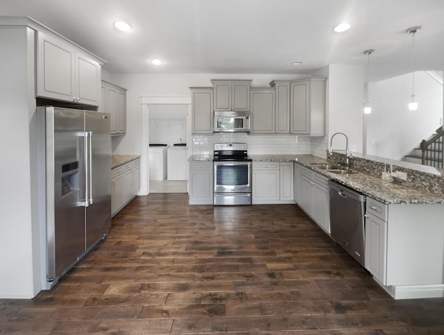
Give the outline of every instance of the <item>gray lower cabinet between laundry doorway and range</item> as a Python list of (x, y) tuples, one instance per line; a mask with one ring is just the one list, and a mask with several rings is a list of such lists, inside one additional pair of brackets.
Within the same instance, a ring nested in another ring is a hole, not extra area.
[(213, 184), (213, 162), (189, 163), (189, 205), (212, 205)]

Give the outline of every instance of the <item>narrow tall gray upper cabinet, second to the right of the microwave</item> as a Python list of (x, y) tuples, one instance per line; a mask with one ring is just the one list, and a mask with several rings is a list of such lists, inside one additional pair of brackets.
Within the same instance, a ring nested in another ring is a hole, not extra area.
[(275, 132), (290, 132), (290, 82), (273, 80), (270, 83), (275, 88)]

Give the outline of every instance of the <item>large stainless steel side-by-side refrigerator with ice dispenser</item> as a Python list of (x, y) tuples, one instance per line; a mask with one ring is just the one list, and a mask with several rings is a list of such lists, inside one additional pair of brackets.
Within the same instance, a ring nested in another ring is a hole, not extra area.
[(110, 114), (37, 108), (42, 289), (51, 289), (111, 227)]

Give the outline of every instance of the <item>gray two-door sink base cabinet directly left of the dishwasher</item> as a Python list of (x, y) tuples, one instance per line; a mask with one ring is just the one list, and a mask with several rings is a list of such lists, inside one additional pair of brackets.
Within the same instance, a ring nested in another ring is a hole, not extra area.
[(329, 203), (328, 178), (301, 166), (299, 206), (327, 234), (330, 234)]

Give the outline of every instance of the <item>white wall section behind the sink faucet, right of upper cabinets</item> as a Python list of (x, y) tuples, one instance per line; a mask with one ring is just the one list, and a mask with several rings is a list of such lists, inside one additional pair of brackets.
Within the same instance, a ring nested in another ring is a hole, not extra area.
[[(364, 101), (364, 67), (362, 65), (330, 65), (327, 80), (328, 144), (335, 132), (348, 137), (348, 148), (362, 152)], [(344, 150), (345, 138), (336, 135), (333, 148)]]

